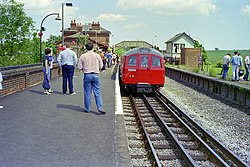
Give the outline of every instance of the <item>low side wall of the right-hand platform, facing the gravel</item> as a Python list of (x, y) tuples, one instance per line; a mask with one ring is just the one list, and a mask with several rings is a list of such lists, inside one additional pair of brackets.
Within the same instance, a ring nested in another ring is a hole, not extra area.
[(193, 84), (205, 91), (217, 94), (240, 105), (250, 107), (250, 88), (248, 85), (239, 85), (171, 67), (166, 68), (166, 75), (169, 78)]

